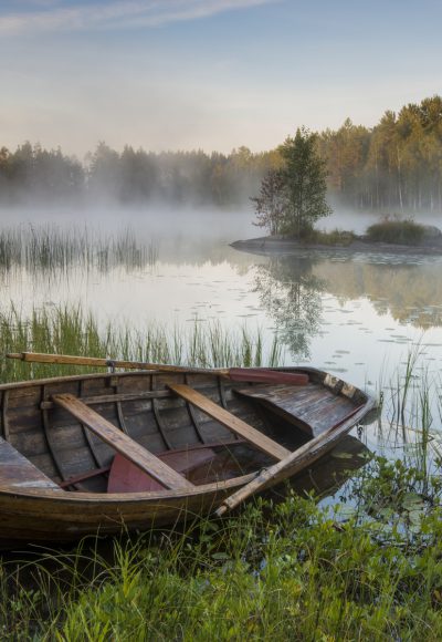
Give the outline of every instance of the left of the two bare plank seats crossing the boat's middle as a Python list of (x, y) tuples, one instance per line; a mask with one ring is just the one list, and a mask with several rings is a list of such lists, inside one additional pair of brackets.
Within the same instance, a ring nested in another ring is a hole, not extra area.
[(119, 431), (114, 424), (86, 406), (73, 394), (56, 394), (52, 401), (69, 411), (90, 431), (98, 435), (106, 444), (133, 462), (138, 468), (157, 479), (171, 490), (190, 490), (194, 488), (188, 479), (161, 462), (154, 453), (144, 448)]

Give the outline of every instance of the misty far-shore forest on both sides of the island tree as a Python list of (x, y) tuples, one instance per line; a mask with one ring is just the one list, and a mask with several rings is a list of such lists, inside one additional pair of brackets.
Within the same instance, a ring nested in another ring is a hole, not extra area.
[[(293, 134), (293, 132), (287, 132)], [(350, 120), (318, 133), (334, 204), (378, 211), (442, 211), (442, 97), (388, 111), (367, 128)], [(171, 206), (236, 207), (255, 196), (265, 173), (281, 166), (278, 149), (152, 153), (105, 143), (85, 162), (27, 142), (0, 149), (0, 203), (164, 201)]]

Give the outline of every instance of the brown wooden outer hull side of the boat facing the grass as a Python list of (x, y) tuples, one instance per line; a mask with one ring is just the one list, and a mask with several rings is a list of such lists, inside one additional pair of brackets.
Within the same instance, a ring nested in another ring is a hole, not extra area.
[[(85, 535), (145, 530), (212, 510), (254, 474), (196, 487), (192, 494), (152, 491), (120, 495), (0, 489), (0, 546), (8, 541), (72, 541)], [(60, 500), (61, 497), (61, 500)]]

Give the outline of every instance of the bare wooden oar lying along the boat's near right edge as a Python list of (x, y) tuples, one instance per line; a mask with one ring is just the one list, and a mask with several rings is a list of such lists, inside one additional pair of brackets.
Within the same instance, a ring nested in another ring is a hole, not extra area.
[[(324, 442), (324, 445), (329, 444), (330, 439), (333, 439), (332, 433), (334, 433), (338, 427), (341, 427), (343, 431), (345, 431), (347, 427), (351, 427), (356, 421), (356, 414), (361, 412), (364, 408), (369, 407), (371, 407), (370, 402), (361, 404), (360, 406), (352, 410), (344, 418), (341, 418), (337, 424), (328, 428), (326, 433), (323, 433), (314, 439), (311, 439), (304, 444), (304, 446), (301, 446), (301, 448), (297, 448), (287, 457), (281, 459), (273, 466), (269, 466), (267, 468), (261, 470), (261, 473), (254, 479), (252, 479), (252, 482), (249, 482), (249, 484), (245, 484), (245, 486), (236, 490), (236, 493), (233, 493), (233, 495), (227, 497), (227, 499), (223, 500), (214, 514), (218, 517), (222, 517), (228, 510), (236, 508), (236, 506), (242, 504), (242, 501), (248, 499), (251, 495), (264, 490), (271, 484), (273, 485), (282, 482), (286, 478), (287, 468), (290, 468), (290, 476), (293, 476), (302, 470), (305, 467), (306, 460), (311, 459), (314, 462), (316, 458), (318, 458), (320, 451), (318, 449), (316, 453), (314, 452), (316, 445), (320, 444), (322, 442)], [(346, 424), (350, 418), (352, 418), (350, 426), (344, 426), (344, 424)], [(341, 431), (339, 431), (339, 433), (341, 433)]]

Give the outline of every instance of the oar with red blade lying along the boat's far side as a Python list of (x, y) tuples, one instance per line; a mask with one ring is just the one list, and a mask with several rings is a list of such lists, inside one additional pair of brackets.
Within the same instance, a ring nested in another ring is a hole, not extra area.
[(74, 356), (71, 354), (45, 354), (42, 352), (10, 352), (8, 359), (18, 359), (28, 363), (49, 363), (56, 365), (87, 365), (92, 367), (124, 367), (127, 370), (152, 370), (157, 372), (200, 373), (218, 374), (232, 381), (287, 383), (291, 385), (305, 385), (308, 383), (308, 374), (301, 372), (284, 372), (267, 367), (186, 367), (183, 365), (169, 365), (164, 363), (146, 363), (143, 361), (119, 361), (113, 359), (99, 359), (96, 356)]

